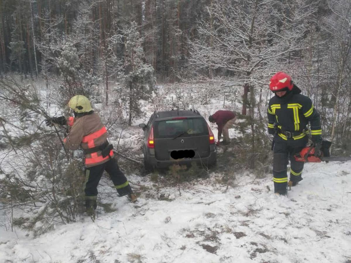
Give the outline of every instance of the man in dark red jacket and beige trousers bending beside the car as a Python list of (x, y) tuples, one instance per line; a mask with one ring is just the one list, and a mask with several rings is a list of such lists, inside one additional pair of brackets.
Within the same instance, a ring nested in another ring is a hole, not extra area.
[(222, 136), (223, 132), (223, 141), (222, 144), (229, 144), (229, 131), (228, 129), (233, 128), (235, 123), (237, 114), (232, 112), (231, 110), (217, 110), (214, 114), (208, 117), (210, 122), (216, 122), (218, 126), (218, 141), (217, 146), (219, 145), (220, 137)]

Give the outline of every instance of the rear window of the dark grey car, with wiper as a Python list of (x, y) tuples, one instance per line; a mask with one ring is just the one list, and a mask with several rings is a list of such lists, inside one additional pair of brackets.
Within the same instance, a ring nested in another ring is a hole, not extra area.
[(204, 118), (164, 120), (154, 123), (154, 137), (156, 139), (201, 135), (208, 135), (208, 128)]

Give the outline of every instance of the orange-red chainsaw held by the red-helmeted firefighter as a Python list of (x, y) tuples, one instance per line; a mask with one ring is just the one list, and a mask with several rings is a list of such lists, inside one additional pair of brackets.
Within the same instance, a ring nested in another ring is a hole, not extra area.
[(329, 161), (350, 161), (351, 156), (330, 156), (329, 147), (331, 143), (328, 141), (322, 142), (322, 149), (320, 152), (315, 155), (315, 147), (312, 144), (309, 147), (303, 148), (300, 153), (296, 154), (295, 160), (298, 162), (311, 162), (311, 163), (320, 163), (320, 162), (329, 162)]

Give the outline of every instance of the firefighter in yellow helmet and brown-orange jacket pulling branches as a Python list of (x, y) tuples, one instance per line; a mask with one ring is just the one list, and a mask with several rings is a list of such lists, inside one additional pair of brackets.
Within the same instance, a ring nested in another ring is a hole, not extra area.
[(101, 119), (91, 107), (87, 97), (75, 95), (69, 100), (68, 107), (73, 109), (74, 118), (68, 120), (64, 116), (46, 120), (47, 125), (57, 123), (71, 126), (64, 139), (65, 149), (77, 150), (81, 147), (85, 153), (85, 205), (89, 215), (95, 215), (97, 208), (97, 186), (104, 170), (110, 175), (114, 187), (120, 196), (127, 195), (132, 202), (137, 197), (118, 167), (113, 156), (113, 146), (107, 141), (107, 131)]

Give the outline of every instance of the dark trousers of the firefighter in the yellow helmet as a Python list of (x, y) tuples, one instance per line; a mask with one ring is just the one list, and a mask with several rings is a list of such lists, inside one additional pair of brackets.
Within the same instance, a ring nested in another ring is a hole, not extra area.
[[(117, 189), (120, 196), (132, 193), (132, 189), (127, 181), (125, 175), (121, 172), (118, 167), (117, 160), (114, 158), (110, 159), (106, 163), (99, 164), (97, 166), (86, 168), (85, 171), (85, 199), (86, 201), (91, 200), (94, 202), (96, 208), (96, 200), (98, 195), (98, 184), (101, 179), (102, 173), (106, 171)], [(89, 202), (86, 202), (89, 203)]]

